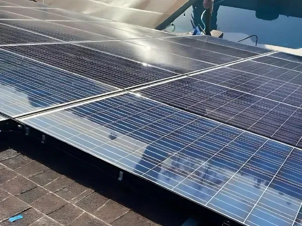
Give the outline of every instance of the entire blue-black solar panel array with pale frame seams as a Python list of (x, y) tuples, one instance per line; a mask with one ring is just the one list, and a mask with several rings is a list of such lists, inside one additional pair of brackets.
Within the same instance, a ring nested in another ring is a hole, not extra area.
[(0, 26), (2, 114), (240, 223), (302, 224), (302, 58), (25, 0)]

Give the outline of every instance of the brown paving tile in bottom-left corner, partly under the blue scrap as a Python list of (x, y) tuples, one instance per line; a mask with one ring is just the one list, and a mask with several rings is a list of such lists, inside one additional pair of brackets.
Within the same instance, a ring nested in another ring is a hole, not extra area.
[(37, 219), (44, 216), (39, 211), (35, 210), (34, 208), (29, 208), (20, 214), (23, 215), (22, 219), (14, 221), (14, 223), (10, 222), (9, 219), (1, 222), (1, 226), (29, 226), (33, 222), (35, 222)]

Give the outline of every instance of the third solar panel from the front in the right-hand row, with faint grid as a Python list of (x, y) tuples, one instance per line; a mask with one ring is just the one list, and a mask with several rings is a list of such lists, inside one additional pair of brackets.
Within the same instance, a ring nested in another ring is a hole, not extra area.
[[(238, 91), (251, 93), (260, 97), (266, 97), (279, 102), (301, 106), (302, 87), (301, 85), (296, 84), (296, 80), (293, 80), (295, 83), (291, 83), (288, 80), (292, 75), (300, 73), (284, 69), (285, 73), (282, 73), (282, 75), (279, 74), (280, 76), (277, 77), (278, 71), (283, 72), (283, 69), (277, 69), (278, 70), (274, 72), (270, 71), (273, 73), (260, 73), (261, 75), (257, 75), (257, 71), (254, 74), (224, 67), (200, 73), (193, 77)], [(266, 70), (263, 70), (263, 72), (265, 71)], [(274, 77), (276, 78), (272, 78), (272, 74), (275, 74), (276, 76)]]

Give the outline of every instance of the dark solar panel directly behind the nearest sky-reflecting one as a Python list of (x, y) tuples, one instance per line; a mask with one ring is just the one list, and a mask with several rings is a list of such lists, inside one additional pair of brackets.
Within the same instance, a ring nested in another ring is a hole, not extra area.
[(141, 89), (139, 94), (302, 147), (302, 108), (192, 77)]

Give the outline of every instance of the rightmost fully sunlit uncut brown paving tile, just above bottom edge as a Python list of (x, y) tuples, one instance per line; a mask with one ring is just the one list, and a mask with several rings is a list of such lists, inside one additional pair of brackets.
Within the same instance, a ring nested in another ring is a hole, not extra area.
[(107, 223), (111, 223), (129, 211), (129, 208), (117, 203), (116, 201), (109, 200), (101, 208), (95, 211), (94, 215)]

